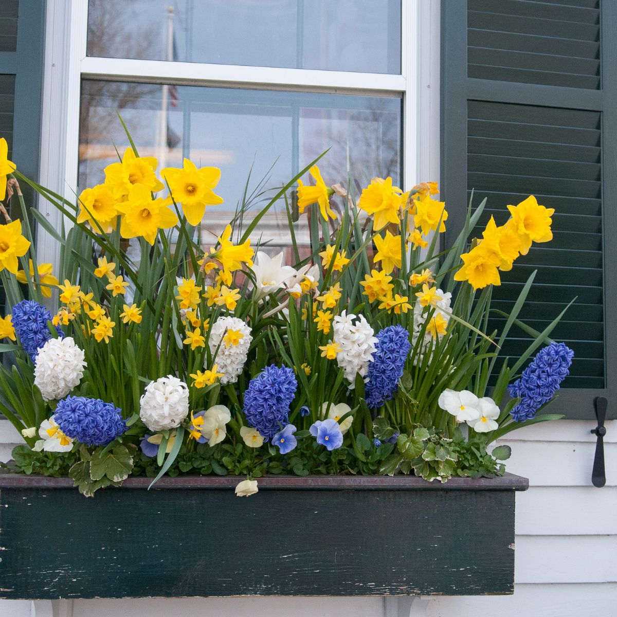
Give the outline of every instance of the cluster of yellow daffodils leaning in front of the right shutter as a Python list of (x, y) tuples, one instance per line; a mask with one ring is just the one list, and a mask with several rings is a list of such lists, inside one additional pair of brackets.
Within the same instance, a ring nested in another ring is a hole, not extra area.
[(516, 206), (508, 205), (508, 210), (511, 218), (505, 225), (497, 227), (491, 217), (482, 239), (461, 255), (463, 266), (454, 275), (455, 280), (468, 281), (474, 289), (500, 285), (499, 271), (511, 270), (519, 255), (528, 254), (532, 242), (552, 240), (553, 208), (545, 208), (536, 197), (529, 196)]

